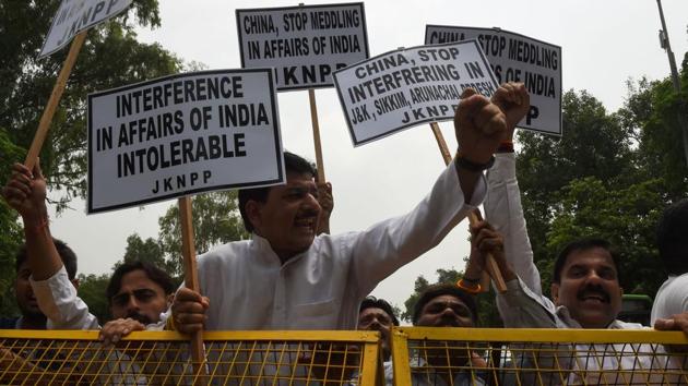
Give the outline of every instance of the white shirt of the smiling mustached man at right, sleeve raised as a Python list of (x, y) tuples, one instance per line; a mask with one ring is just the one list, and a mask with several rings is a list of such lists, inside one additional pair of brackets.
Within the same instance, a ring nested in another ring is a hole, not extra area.
[[(513, 154), (496, 155), (496, 162), (488, 172), (488, 193), (485, 201), (486, 218), (502, 233), (505, 238), (505, 253), (511, 263), (518, 280), (507, 282), (507, 292), (497, 295), (497, 307), (505, 323), (505, 327), (529, 328), (581, 328), (581, 325), (570, 316), (566, 306), (555, 304), (543, 295), (539, 273), (533, 263), (533, 252), (527, 238), (521, 193), (515, 179), (515, 158)], [(640, 324), (614, 321), (609, 329), (645, 328)], [(666, 352), (662, 346), (652, 345), (577, 345), (568, 353), (573, 363), (565, 364), (571, 369), (569, 384), (615, 384), (617, 372), (595, 373), (600, 369), (649, 370), (666, 369)], [(574, 354), (572, 350), (574, 351)], [(590, 354), (595, 352), (596, 354)], [(641, 353), (640, 355), (634, 354)], [(656, 352), (655, 355), (649, 353)], [(644, 355), (642, 353), (645, 353)], [(558, 352), (561, 355), (561, 351)], [(541, 365), (551, 366), (551, 357), (541, 354)], [(567, 354), (564, 353), (566, 357)], [(559, 359), (560, 364), (561, 359)], [(581, 372), (584, 370), (585, 372)], [(578, 371), (578, 372), (577, 372)], [(553, 382), (557, 382), (555, 375)], [(640, 383), (676, 382), (662, 378), (662, 375), (636, 373), (626, 381)]]

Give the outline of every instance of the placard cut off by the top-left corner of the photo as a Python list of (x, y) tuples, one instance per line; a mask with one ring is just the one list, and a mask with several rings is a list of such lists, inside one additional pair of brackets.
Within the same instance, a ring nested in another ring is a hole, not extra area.
[(131, 0), (62, 0), (38, 59), (64, 47), (76, 34), (104, 22), (131, 4)]

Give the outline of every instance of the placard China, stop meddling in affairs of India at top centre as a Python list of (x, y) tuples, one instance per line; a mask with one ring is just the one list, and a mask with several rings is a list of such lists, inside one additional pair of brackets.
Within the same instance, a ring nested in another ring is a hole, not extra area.
[(363, 2), (237, 10), (241, 67), (275, 68), (278, 91), (331, 87), (369, 56)]

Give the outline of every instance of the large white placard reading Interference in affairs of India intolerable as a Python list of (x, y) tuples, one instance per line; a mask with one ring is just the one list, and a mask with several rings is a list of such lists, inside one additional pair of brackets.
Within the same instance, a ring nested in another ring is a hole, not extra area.
[(179, 74), (88, 96), (87, 212), (284, 182), (269, 69)]

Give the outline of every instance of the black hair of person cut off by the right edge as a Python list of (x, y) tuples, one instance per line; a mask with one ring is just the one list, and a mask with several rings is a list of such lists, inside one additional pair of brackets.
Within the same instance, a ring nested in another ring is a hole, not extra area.
[(657, 224), (657, 249), (667, 274), (688, 273), (688, 198), (664, 209)]

